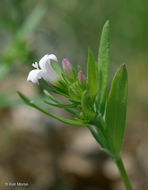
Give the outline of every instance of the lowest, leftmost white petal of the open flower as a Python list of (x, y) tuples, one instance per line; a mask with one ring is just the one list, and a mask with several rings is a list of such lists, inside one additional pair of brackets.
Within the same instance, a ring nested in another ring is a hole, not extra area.
[(38, 80), (42, 78), (43, 71), (39, 69), (34, 69), (29, 72), (27, 81), (39, 84)]

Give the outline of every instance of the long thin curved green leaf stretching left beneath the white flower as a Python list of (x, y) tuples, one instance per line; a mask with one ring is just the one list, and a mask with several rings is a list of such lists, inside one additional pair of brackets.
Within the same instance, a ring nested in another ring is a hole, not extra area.
[(18, 95), (20, 96), (20, 98), (29, 106), (39, 110), (40, 112), (58, 120), (61, 121), (63, 123), (69, 124), (69, 125), (78, 125), (78, 126), (85, 126), (87, 124), (81, 122), (81, 121), (75, 121), (75, 120), (70, 120), (70, 119), (66, 119), (66, 118), (62, 118), (62, 117), (58, 117), (55, 116), (47, 111), (45, 111), (44, 109), (40, 108), (39, 106), (37, 106), (33, 101), (29, 100), (26, 96), (24, 96), (21, 92), (18, 92)]

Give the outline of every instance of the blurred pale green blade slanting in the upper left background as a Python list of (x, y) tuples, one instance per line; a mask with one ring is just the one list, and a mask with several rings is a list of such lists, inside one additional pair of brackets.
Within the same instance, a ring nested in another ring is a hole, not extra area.
[(36, 7), (32, 10), (31, 14), (26, 19), (22, 28), (18, 32), (18, 37), (21, 39), (28, 38), (33, 32), (36, 30), (38, 24), (41, 19), (45, 15), (47, 11), (47, 5), (44, 3), (36, 5)]

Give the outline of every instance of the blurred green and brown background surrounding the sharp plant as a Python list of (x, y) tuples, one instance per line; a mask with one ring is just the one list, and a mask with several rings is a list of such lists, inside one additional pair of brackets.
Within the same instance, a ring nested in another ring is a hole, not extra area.
[(0, 189), (7, 189), (5, 182), (26, 182), (29, 190), (124, 189), (114, 164), (86, 129), (43, 116), (16, 93), (41, 96), (26, 78), (46, 53), (56, 54), (59, 64), (67, 57), (85, 71), (88, 47), (97, 57), (107, 19), (110, 83), (120, 64), (126, 63), (129, 73), (123, 159), (134, 189), (148, 189), (147, 18), (147, 0), (0, 1)]

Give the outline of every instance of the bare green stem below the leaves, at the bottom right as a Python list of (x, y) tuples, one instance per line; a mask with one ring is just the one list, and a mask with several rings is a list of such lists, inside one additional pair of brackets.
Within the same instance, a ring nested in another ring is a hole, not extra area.
[(113, 160), (115, 161), (115, 163), (116, 163), (116, 165), (117, 165), (117, 167), (118, 167), (118, 169), (119, 169), (119, 171), (120, 171), (120, 175), (121, 175), (121, 177), (122, 177), (122, 180), (123, 180), (123, 182), (124, 182), (124, 185), (125, 185), (125, 187), (126, 187), (126, 190), (133, 190), (133, 189), (132, 189), (132, 186), (131, 186), (131, 184), (130, 184), (129, 178), (128, 178), (128, 176), (127, 176), (125, 167), (124, 167), (124, 165), (123, 165), (123, 161), (122, 161), (122, 159), (121, 159), (121, 156), (120, 156), (120, 155), (119, 155), (119, 156), (116, 156), (116, 157), (113, 158)]

